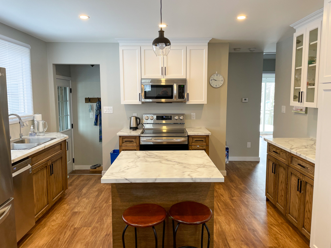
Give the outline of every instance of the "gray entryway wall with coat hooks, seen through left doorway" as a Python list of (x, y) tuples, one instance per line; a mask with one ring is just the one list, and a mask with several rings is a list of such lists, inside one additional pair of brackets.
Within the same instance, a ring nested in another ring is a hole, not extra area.
[[(100, 66), (71, 65), (73, 144), (75, 166), (102, 164), (102, 143), (99, 143), (99, 126), (87, 112), (85, 97), (100, 97)], [(95, 103), (91, 103), (93, 117)]]

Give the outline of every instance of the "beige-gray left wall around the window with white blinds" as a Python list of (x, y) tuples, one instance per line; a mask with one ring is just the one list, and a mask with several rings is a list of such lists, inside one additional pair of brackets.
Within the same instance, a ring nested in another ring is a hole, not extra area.
[[(33, 110), (34, 113), (42, 114), (47, 123), (50, 122), (46, 42), (3, 23), (0, 23), (0, 34), (31, 46)], [(29, 131), (30, 126), (22, 128), (23, 134), (28, 134)], [(11, 124), (10, 134), (12, 139), (19, 137), (20, 126), (18, 123)]]

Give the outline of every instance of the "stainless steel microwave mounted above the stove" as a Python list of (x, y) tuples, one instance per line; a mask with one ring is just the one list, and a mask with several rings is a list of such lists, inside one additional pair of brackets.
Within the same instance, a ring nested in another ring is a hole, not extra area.
[(186, 103), (186, 79), (141, 79), (143, 103)]

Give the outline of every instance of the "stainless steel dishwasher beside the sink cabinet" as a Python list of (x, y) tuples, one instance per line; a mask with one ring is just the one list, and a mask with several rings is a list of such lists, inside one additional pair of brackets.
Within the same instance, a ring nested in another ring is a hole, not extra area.
[(31, 158), (12, 164), (16, 238), (19, 241), (35, 224)]

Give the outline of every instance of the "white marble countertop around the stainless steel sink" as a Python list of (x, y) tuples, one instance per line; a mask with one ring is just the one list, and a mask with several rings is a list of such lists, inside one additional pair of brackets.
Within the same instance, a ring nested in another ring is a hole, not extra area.
[[(67, 135), (61, 134), (61, 133), (45, 133), (44, 136), (37, 136), (37, 137), (38, 138), (56, 138), (56, 139), (46, 142), (44, 144), (38, 145), (36, 147), (33, 147), (29, 150), (11, 150), (12, 163), (17, 162), (27, 156), (30, 156), (33, 153), (41, 151), (47, 147), (50, 147), (56, 143), (59, 143), (61, 141), (66, 140), (67, 138), (69, 138)], [(23, 138), (31, 138), (31, 137), (23, 136)], [(34, 137), (32, 137), (32, 138), (34, 138)], [(19, 139), (17, 139), (17, 140), (19, 140)]]

